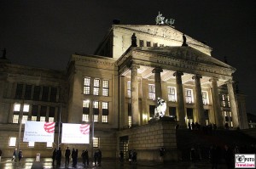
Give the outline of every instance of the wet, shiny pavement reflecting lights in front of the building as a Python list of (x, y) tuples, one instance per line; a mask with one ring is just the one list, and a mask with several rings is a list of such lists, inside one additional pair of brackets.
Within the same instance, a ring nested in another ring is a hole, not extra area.
[[(24, 158), (20, 162), (14, 162), (10, 159), (2, 159), (0, 162), (0, 169), (57, 169), (57, 168), (87, 168), (87, 169), (211, 169), (212, 166), (208, 161), (180, 161), (180, 162), (168, 162), (168, 163), (158, 163), (154, 161), (137, 161), (137, 163), (129, 164), (129, 161), (120, 163), (118, 160), (103, 159), (102, 166), (95, 166), (94, 163), (89, 164), (89, 166), (84, 166), (84, 164), (79, 161), (76, 167), (73, 167), (70, 163), (69, 166), (65, 166), (65, 161), (61, 161), (61, 166), (52, 166), (52, 160), (50, 158), (43, 158), (40, 162), (35, 161), (33, 158)], [(226, 169), (226, 166), (222, 163), (218, 166), (218, 169)]]

